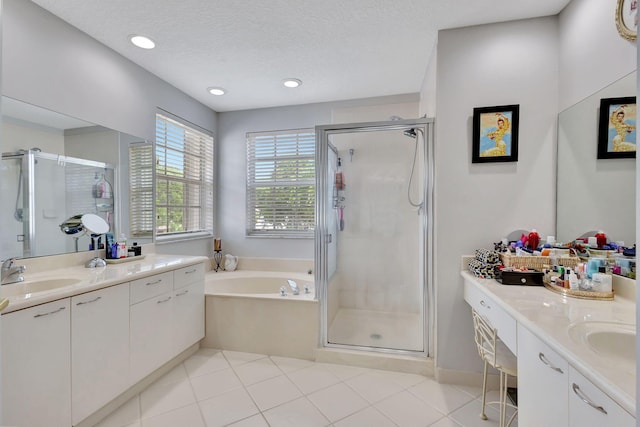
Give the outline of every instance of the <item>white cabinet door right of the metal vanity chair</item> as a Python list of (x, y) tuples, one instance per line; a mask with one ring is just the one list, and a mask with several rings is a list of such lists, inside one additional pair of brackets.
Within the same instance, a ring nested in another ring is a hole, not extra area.
[(568, 376), (569, 364), (518, 325), (518, 425), (568, 425)]

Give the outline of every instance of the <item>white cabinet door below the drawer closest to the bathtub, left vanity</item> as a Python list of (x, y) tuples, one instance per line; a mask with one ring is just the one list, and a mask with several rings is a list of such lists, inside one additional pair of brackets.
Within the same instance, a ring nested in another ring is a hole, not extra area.
[(173, 291), (173, 350), (187, 349), (204, 338), (204, 281)]

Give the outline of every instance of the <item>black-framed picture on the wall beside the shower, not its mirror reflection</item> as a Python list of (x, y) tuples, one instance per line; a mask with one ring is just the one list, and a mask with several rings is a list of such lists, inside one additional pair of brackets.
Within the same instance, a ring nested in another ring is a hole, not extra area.
[(473, 109), (472, 163), (517, 162), (520, 105)]

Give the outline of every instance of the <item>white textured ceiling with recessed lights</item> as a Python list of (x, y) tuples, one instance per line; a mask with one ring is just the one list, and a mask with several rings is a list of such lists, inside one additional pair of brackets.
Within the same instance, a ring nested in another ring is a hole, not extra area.
[[(216, 111), (415, 93), (437, 31), (569, 0), (32, 0)], [(135, 48), (130, 34), (156, 41)], [(303, 81), (286, 89), (282, 79)], [(221, 86), (227, 94), (210, 95)]]

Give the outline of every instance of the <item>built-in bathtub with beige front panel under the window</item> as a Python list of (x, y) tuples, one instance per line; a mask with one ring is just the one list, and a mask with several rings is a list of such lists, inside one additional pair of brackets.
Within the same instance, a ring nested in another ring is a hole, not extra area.
[[(291, 293), (287, 279), (298, 284), (300, 295)], [(280, 295), (282, 286), (286, 296)], [(314, 360), (320, 308), (312, 275), (210, 271), (205, 275), (205, 296), (204, 347)]]

